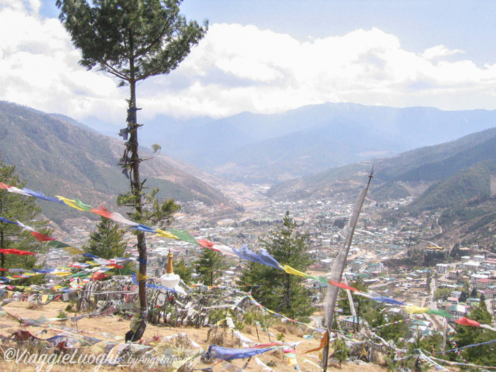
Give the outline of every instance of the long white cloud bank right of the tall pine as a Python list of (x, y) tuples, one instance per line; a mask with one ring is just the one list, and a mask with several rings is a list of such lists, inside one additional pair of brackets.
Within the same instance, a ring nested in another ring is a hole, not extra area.
[[(156, 96), (188, 97), (176, 106), (186, 115), (280, 112), (326, 101), (496, 109), (495, 66), (442, 59), (459, 52), (440, 46), (416, 54), (375, 28), (301, 43), (253, 26), (213, 24), (176, 71), (158, 77), (163, 90)], [(174, 84), (181, 79), (190, 84)], [(474, 90), (476, 105), (466, 99)]]

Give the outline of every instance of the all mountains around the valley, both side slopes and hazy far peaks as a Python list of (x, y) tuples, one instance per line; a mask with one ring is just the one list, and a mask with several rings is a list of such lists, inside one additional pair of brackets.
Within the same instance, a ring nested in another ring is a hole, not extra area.
[[(340, 120), (343, 122), (338, 124), (338, 121), (333, 121), (330, 125), (325, 118), (319, 119), (320, 110), (332, 111), (334, 117), (338, 117), (336, 112), (340, 112)], [(368, 110), (370, 112), (366, 114)], [(305, 112), (308, 112), (308, 117), (303, 119)], [(354, 120), (350, 119), (350, 125), (347, 125), (344, 119), (346, 112), (355, 115)], [(361, 112), (363, 121), (356, 119), (356, 112)], [(384, 122), (389, 123), (386, 132), (379, 130), (381, 123), (379, 113), (382, 113)], [(193, 142), (200, 140), (209, 142), (216, 139), (217, 142), (210, 144), (211, 152), (217, 154), (224, 151), (223, 143), (226, 143), (227, 148), (234, 148), (234, 144), (229, 140), (233, 133), (237, 133), (234, 137), (237, 138), (238, 159), (241, 159), (242, 154), (248, 154), (246, 151), (248, 145), (243, 143), (253, 141), (248, 146), (252, 156), (246, 156), (244, 163), (235, 158), (226, 157), (225, 160), (235, 163), (232, 169), (236, 167), (240, 170), (244, 169), (246, 177), (240, 175), (239, 178), (245, 181), (255, 176), (262, 179), (264, 174), (273, 181), (280, 180), (282, 174), (285, 174), (284, 177), (292, 178), (276, 184), (266, 193), (269, 198), (276, 200), (336, 196), (354, 198), (358, 189), (366, 184), (370, 170), (374, 168), (371, 199), (387, 202), (414, 196), (414, 202), (409, 204), (406, 211), (418, 214), (426, 209), (452, 209), (456, 213), (462, 213), (461, 209), (464, 206), (473, 206), (478, 202), (485, 203), (485, 211), (492, 211), (493, 206), (490, 204), (496, 193), (496, 128), (470, 133), (448, 142), (419, 147), (389, 157), (384, 154), (393, 148), (395, 149), (393, 152), (396, 152), (402, 147), (414, 146), (417, 142), (433, 142), (436, 138), (454, 137), (474, 128), (489, 127), (494, 114), (495, 112), (483, 110), (442, 112), (423, 107), (393, 109), (351, 104), (319, 105), (302, 107), (287, 114), (274, 116), (240, 114), (234, 119), (227, 118), (222, 121), (220, 128), (214, 126), (215, 121), (205, 118), (195, 123), (190, 122), (184, 128), (176, 126), (170, 130), (170, 133), (190, 131), (190, 135), (194, 137)], [(285, 124), (287, 117), (290, 120)], [(391, 119), (392, 117), (395, 119)], [(412, 117), (423, 117), (425, 121), (415, 126)], [(433, 121), (428, 121), (428, 117), (434, 118)], [(258, 119), (253, 119), (252, 124), (249, 124), (247, 118)], [(367, 125), (366, 118), (371, 118), (370, 126)], [(446, 124), (448, 121), (449, 124)], [(310, 126), (309, 123), (313, 125)], [(439, 123), (449, 126), (449, 131), (439, 131), (439, 125), (442, 125)], [(367, 131), (359, 129), (367, 126)], [(329, 148), (324, 146), (327, 139), (324, 133), (331, 133), (329, 131), (331, 127), (335, 135), (333, 140), (336, 147)], [(250, 132), (253, 128), (258, 129)], [(405, 129), (402, 132), (400, 128)], [(414, 128), (412, 133), (408, 128)], [(437, 137), (433, 135), (433, 131), (422, 133), (422, 128), (426, 132), (426, 128), (435, 129)], [(160, 131), (154, 128), (153, 131), (148, 132)], [(140, 132), (140, 135), (148, 132)], [(201, 133), (209, 134), (209, 137), (203, 137)], [(316, 133), (320, 133), (320, 136)], [(315, 143), (309, 144), (310, 138), (314, 135), (320, 138), (320, 142), (315, 140)], [(160, 135), (157, 134), (156, 139), (159, 140), (159, 137)], [(69, 117), (46, 114), (14, 103), (0, 102), (0, 139), (1, 158), (7, 164), (16, 165), (17, 173), (22, 179), (27, 180), (26, 186), (32, 190), (42, 191), (45, 195), (78, 198), (87, 204), (114, 206), (117, 195), (125, 193), (128, 189), (128, 181), (123, 176), (121, 168), (117, 166), (123, 152), (122, 140), (100, 135)], [(178, 141), (170, 140), (167, 148), (179, 146), (176, 142)], [(193, 142), (188, 142), (188, 146)], [(276, 145), (285, 142), (287, 146)], [(295, 142), (299, 142), (298, 147), (291, 148), (290, 144)], [(373, 142), (381, 145), (374, 144), (375, 147), (368, 145)], [(340, 148), (347, 148), (347, 152), (341, 154), (343, 158), (334, 161), (346, 164), (329, 167), (324, 172), (319, 172), (320, 168), (324, 168), (326, 163), (324, 160), (333, 158), (333, 154), (339, 152), (337, 149)], [(205, 151), (204, 158), (197, 158), (197, 163), (213, 163), (211, 159), (214, 155), (210, 158), (206, 155), (209, 151), (201, 147), (197, 147), (197, 151)], [(294, 156), (287, 156), (288, 151)], [(314, 155), (308, 155), (313, 151), (315, 151)], [(227, 152), (222, 156), (227, 156)], [(317, 156), (319, 154), (320, 156)], [(146, 148), (142, 148), (142, 156), (149, 156), (146, 154)], [(264, 156), (271, 158), (262, 161)], [(354, 158), (353, 156), (361, 156), (363, 159), (352, 163), (350, 159)], [(296, 158), (299, 158), (299, 163), (295, 162)], [(301, 167), (298, 172), (310, 173), (310, 175), (294, 178), (298, 173), (296, 172), (298, 164)], [(225, 165), (225, 169), (228, 166)], [(190, 174), (198, 175), (202, 171), (183, 160), (160, 154), (156, 158), (144, 161), (141, 169), (143, 177), (146, 178), (146, 185), (160, 188), (159, 198), (174, 198), (179, 202), (203, 202), (216, 206), (220, 214), (236, 213), (242, 209), (239, 204), (223, 195), (218, 188), (191, 176)], [(211, 175), (202, 174), (202, 179), (213, 178)], [(71, 214), (70, 209), (61, 209), (55, 203), (45, 202), (45, 204), (47, 205), (43, 205), (43, 212), (52, 221), (61, 223), (63, 218)], [(465, 209), (463, 213), (467, 214), (467, 210)], [(479, 212), (470, 212), (471, 215), (474, 213), (479, 214)]]

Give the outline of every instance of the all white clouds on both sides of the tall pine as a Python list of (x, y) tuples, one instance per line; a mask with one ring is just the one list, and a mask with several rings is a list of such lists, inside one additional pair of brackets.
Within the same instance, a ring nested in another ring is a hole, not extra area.
[[(40, 1), (0, 1), (0, 99), (121, 126), (127, 89), (77, 66), (79, 52), (57, 19), (38, 15)], [(328, 101), (496, 109), (496, 64), (453, 60), (461, 52), (436, 45), (416, 54), (375, 28), (300, 42), (252, 25), (212, 24), (179, 68), (138, 86), (140, 117), (271, 113)]]

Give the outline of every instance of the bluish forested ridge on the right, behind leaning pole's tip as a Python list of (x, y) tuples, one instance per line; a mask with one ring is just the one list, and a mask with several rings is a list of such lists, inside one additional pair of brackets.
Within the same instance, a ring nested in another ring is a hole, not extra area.
[(421, 211), (451, 207), (481, 195), (489, 197), (494, 189), (492, 176), (496, 175), (496, 128), (392, 158), (354, 163), (287, 181), (271, 188), (268, 195), (296, 200), (356, 193), (366, 183), (373, 166), (373, 200), (416, 196), (410, 207)]

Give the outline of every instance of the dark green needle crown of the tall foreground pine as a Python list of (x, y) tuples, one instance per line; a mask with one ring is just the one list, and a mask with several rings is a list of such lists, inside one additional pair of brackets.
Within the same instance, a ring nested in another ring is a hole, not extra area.
[(204, 36), (207, 24), (186, 21), (182, 0), (57, 0), (60, 19), (82, 52), (80, 64), (98, 66), (133, 84), (174, 70)]

